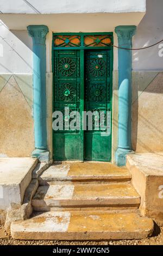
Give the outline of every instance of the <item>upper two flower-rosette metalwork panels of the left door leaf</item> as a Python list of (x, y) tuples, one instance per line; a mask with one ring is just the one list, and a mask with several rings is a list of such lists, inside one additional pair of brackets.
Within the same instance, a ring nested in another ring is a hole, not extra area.
[(79, 108), (80, 103), (80, 52), (54, 52), (54, 106), (57, 109)]

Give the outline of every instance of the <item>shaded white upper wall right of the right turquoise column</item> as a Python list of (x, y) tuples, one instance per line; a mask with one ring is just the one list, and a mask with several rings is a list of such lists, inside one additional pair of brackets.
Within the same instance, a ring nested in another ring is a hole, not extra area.
[[(147, 0), (147, 12), (137, 27), (133, 48), (146, 47), (163, 39), (163, 1)], [(159, 45), (133, 52), (133, 70), (162, 70)]]

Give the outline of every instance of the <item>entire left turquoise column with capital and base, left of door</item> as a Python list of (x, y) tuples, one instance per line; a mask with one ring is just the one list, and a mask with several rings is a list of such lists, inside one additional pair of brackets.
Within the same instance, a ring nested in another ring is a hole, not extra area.
[(28, 33), (33, 38), (33, 88), (35, 150), (32, 157), (48, 161), (46, 128), (46, 35), (45, 25), (30, 25)]

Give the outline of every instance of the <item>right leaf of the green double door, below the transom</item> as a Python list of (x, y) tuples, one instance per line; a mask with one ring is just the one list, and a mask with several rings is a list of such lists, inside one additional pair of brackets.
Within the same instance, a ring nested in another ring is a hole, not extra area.
[[(85, 52), (85, 110), (104, 115), (111, 108), (110, 52), (91, 50)], [(110, 115), (108, 115), (110, 117)], [(84, 159), (93, 161), (111, 160), (111, 134), (106, 129), (95, 129), (96, 115), (93, 119), (93, 130), (84, 133)], [(102, 127), (103, 128), (103, 127)]]

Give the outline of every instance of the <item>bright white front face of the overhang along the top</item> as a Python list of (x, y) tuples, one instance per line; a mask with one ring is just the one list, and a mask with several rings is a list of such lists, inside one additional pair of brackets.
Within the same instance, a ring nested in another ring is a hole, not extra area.
[(146, 0), (0, 0), (2, 13), (126, 13), (145, 11)]

